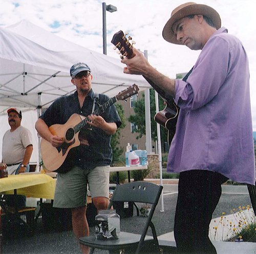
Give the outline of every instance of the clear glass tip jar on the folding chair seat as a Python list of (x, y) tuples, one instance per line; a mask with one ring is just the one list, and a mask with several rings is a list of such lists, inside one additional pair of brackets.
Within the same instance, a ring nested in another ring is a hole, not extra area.
[(99, 210), (95, 216), (95, 237), (100, 240), (120, 237), (120, 216), (115, 209)]

